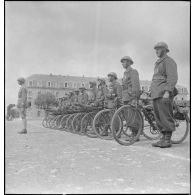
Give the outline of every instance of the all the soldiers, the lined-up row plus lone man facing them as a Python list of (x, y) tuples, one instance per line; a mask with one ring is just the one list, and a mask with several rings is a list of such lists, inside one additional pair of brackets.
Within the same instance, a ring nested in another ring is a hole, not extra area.
[[(154, 46), (156, 55), (159, 58), (154, 67), (154, 74), (151, 84), (151, 98), (153, 100), (154, 116), (157, 127), (162, 134), (160, 141), (154, 143), (153, 146), (166, 148), (171, 147), (172, 132), (175, 131), (175, 122), (173, 119), (173, 98), (176, 94), (175, 85), (178, 80), (177, 65), (170, 58), (168, 46), (164, 42), (159, 42)], [(117, 81), (117, 74), (109, 73), (109, 84), (106, 86), (104, 79), (98, 79), (96, 82), (90, 82), (90, 90), (81, 87), (79, 90), (70, 92), (64, 101), (60, 102), (60, 106), (64, 108), (74, 109), (80, 105), (104, 106), (113, 108), (117, 104), (133, 104), (137, 103), (140, 97), (140, 81), (138, 71), (132, 68), (133, 60), (129, 56), (121, 59), (123, 68), (125, 69), (122, 79), (122, 85)], [(24, 129), (19, 133), (27, 133), (26, 130), (26, 101), (27, 90), (24, 87), (25, 80), (18, 79), (21, 85), (18, 94), (18, 108), (20, 109), (23, 119)], [(136, 129), (132, 130), (136, 133)]]

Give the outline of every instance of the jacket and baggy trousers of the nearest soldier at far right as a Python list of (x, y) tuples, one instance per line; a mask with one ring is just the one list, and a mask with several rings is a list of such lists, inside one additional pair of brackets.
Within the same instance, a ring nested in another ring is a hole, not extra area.
[[(173, 98), (174, 88), (178, 80), (177, 65), (169, 56), (157, 60), (151, 83), (151, 97), (153, 99), (154, 114), (157, 126), (161, 131), (174, 131)], [(163, 97), (169, 91), (169, 100)]]

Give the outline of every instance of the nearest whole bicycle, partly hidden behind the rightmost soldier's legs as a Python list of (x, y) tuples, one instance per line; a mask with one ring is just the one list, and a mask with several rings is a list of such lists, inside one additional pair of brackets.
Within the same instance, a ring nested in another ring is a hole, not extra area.
[[(140, 98), (140, 100), (143, 102), (147, 99)], [(148, 98), (148, 100), (150, 101), (151, 99)], [(188, 135), (189, 118), (186, 112), (183, 112), (182, 120), (179, 120), (175, 116), (176, 131), (173, 133), (171, 142), (178, 144), (184, 141)], [(118, 119), (121, 121), (119, 128), (116, 126)], [(180, 133), (179, 136), (174, 136), (178, 132), (181, 121), (183, 126), (185, 125), (185, 131)], [(112, 117), (111, 130), (114, 139), (119, 144), (126, 146), (134, 144), (140, 135), (144, 135), (150, 140), (158, 139), (161, 136), (155, 122), (153, 107), (151, 105), (143, 105), (140, 101), (137, 102), (137, 106), (123, 105), (120, 107)]]

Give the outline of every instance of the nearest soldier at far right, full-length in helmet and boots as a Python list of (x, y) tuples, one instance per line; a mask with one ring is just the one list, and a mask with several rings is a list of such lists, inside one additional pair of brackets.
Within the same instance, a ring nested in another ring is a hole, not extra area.
[(173, 119), (173, 98), (177, 94), (175, 85), (178, 80), (177, 64), (170, 58), (168, 45), (159, 42), (154, 46), (159, 58), (154, 67), (151, 83), (151, 97), (153, 99), (154, 115), (157, 127), (162, 133), (160, 141), (152, 146), (167, 148), (171, 147), (172, 132), (175, 131)]

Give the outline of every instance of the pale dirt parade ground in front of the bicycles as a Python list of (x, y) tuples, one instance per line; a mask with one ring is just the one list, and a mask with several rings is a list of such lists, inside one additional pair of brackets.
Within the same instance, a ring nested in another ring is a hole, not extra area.
[(189, 193), (189, 136), (172, 148), (132, 146), (28, 122), (6, 122), (6, 193)]

